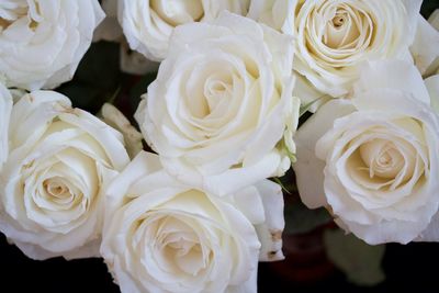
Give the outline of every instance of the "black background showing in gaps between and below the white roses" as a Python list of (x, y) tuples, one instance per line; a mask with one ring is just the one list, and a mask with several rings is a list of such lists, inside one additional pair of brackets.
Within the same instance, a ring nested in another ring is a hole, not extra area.
[[(435, 8), (439, 8), (439, 0), (426, 0), (421, 13), (429, 15)], [(111, 55), (101, 55), (99, 49), (104, 49)], [(143, 78), (121, 75), (117, 58), (117, 47), (114, 44), (94, 45), (82, 60), (74, 81), (64, 84), (59, 91), (68, 94), (76, 106), (91, 112), (99, 110), (103, 101), (114, 92), (122, 92), (115, 102), (117, 104), (119, 100), (120, 108), (132, 112), (133, 105), (138, 102), (138, 93), (145, 91), (145, 86), (154, 79), (154, 75)], [(102, 64), (105, 67), (101, 67)], [(106, 70), (102, 72), (102, 68)], [(142, 88), (134, 84), (133, 80), (143, 84)], [(124, 99), (126, 95), (134, 97), (134, 100), (128, 99), (127, 103), (127, 99)], [(438, 244), (387, 245), (382, 261), (386, 280), (372, 288), (360, 288), (347, 282), (346, 277), (327, 260), (320, 236), (319, 229), (292, 238), (285, 236), (286, 259), (275, 263), (260, 263), (258, 291), (439, 292)], [(66, 261), (55, 258), (35, 261), (26, 258), (15, 246), (9, 245), (0, 234), (0, 293), (3, 292), (120, 291), (117, 285), (113, 284), (101, 259)]]

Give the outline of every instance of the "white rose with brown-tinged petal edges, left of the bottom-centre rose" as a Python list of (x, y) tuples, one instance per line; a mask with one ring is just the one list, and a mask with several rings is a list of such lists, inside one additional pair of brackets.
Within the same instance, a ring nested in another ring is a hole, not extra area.
[(0, 230), (33, 259), (99, 256), (103, 188), (130, 161), (122, 135), (53, 91), (13, 105)]

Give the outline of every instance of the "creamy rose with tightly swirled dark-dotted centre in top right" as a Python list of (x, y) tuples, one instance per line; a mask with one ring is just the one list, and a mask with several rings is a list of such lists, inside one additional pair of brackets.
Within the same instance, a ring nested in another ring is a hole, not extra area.
[(414, 59), (427, 70), (439, 56), (439, 33), (420, 16), (421, 2), (255, 0), (249, 16), (296, 36), (294, 69), (322, 94), (341, 97), (364, 60)]

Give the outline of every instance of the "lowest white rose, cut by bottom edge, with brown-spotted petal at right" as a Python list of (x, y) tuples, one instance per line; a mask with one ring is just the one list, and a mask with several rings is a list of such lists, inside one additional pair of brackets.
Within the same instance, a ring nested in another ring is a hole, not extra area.
[(256, 292), (258, 257), (282, 259), (283, 198), (271, 181), (219, 198), (143, 151), (105, 196), (101, 253), (122, 292)]

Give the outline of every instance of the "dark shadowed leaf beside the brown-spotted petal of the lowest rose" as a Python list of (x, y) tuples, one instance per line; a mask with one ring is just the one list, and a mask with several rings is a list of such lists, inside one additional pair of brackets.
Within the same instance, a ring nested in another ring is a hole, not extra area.
[(299, 199), (285, 204), (285, 233), (303, 234), (329, 223), (333, 217), (325, 209), (309, 210)]

